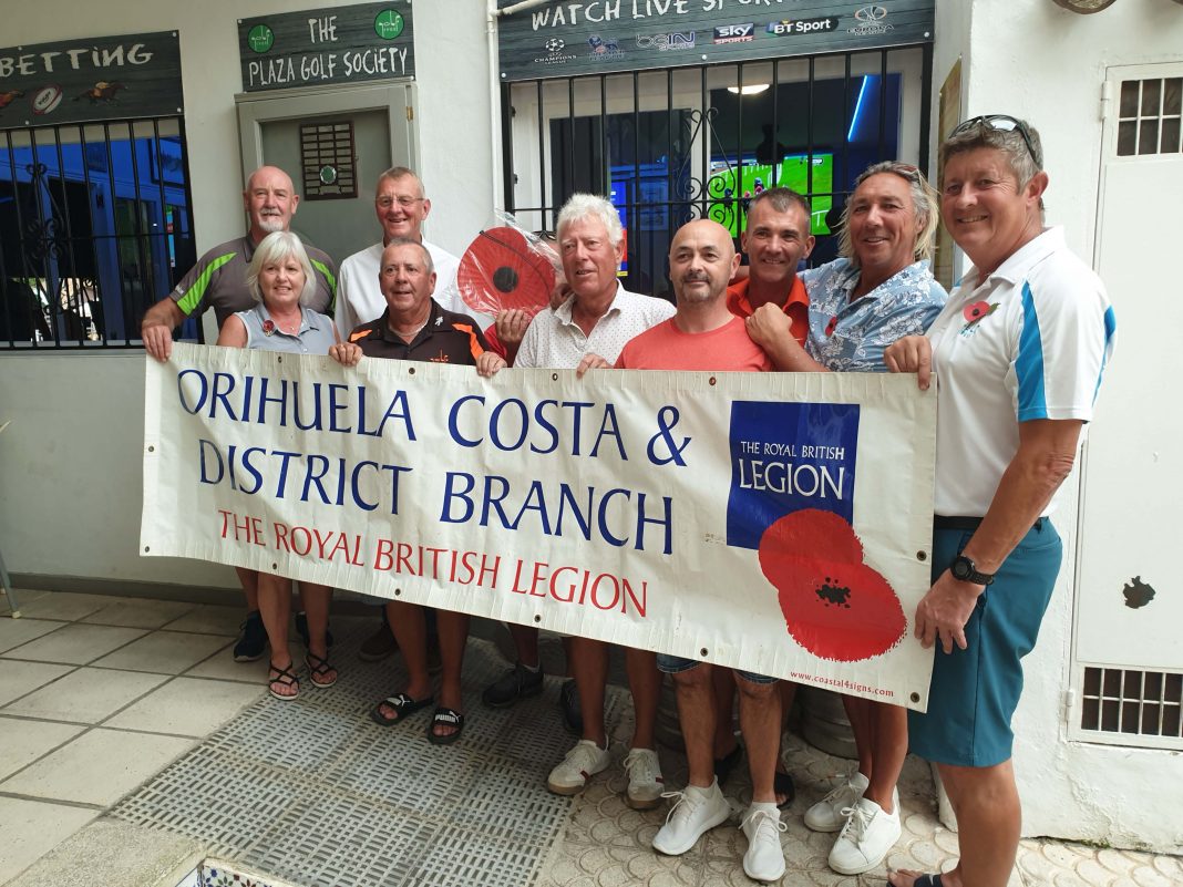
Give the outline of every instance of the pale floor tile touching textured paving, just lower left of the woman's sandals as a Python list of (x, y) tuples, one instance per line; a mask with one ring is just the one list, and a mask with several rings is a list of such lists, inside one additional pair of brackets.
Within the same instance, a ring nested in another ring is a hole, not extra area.
[(203, 737), (266, 692), (261, 684), (177, 678), (119, 712), (104, 726)]

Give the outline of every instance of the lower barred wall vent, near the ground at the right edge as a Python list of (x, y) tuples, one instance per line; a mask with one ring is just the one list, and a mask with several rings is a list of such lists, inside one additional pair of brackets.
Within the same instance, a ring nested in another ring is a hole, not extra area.
[(1093, 742), (1183, 747), (1183, 674), (1085, 667), (1081, 686), (1080, 730)]

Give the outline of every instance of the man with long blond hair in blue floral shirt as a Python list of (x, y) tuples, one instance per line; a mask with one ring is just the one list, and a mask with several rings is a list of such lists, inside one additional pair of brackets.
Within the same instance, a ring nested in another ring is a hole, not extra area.
[[(842, 212), (835, 259), (806, 271), (809, 337), (802, 348), (784, 312), (763, 305), (748, 335), (772, 364), (797, 373), (884, 373), (884, 349), (923, 334), (948, 294), (929, 270), (939, 215), (937, 194), (912, 166), (877, 163), (858, 177)], [(839, 831), (829, 867), (846, 875), (879, 866), (900, 836), (899, 781), (907, 712), (843, 697), (859, 770), (806, 811), (814, 831)]]

